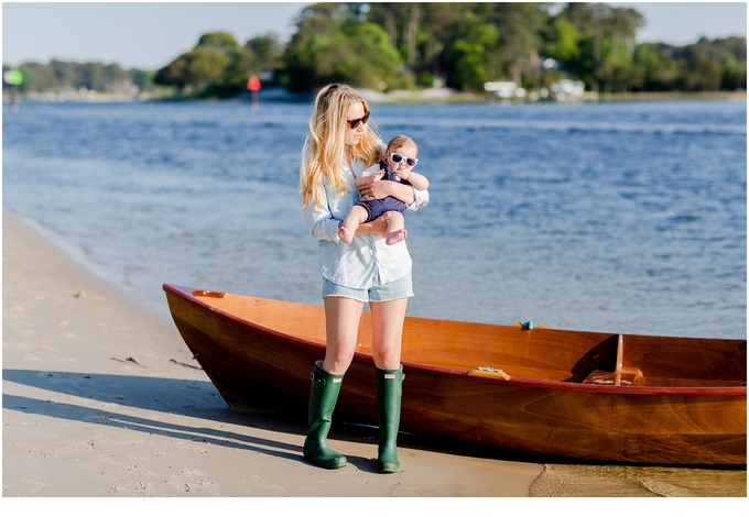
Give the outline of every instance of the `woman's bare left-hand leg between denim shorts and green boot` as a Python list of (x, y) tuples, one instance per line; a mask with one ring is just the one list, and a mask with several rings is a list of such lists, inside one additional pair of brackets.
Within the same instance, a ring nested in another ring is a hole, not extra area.
[(343, 296), (323, 298), (327, 345), (323, 370), (343, 374), (354, 359), (359, 332), (359, 318), (365, 304)]

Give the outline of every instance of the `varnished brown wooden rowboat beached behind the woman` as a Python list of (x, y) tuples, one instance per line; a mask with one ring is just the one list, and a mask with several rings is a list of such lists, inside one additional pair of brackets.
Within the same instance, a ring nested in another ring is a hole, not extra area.
[[(180, 333), (232, 408), (305, 407), (322, 306), (164, 285)], [(371, 320), (336, 417), (376, 422)], [(408, 317), (401, 430), (651, 464), (747, 463), (747, 341)], [(499, 372), (501, 370), (502, 372)]]

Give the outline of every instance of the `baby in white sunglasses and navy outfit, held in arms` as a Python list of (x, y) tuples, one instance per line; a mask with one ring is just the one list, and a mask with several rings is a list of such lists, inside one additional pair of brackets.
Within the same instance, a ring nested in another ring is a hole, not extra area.
[[(356, 186), (365, 185), (366, 178), (371, 176), (372, 182), (379, 182), (380, 179), (402, 182), (412, 185), (419, 190), (426, 190), (430, 182), (423, 175), (412, 170), (419, 162), (416, 158), (417, 153), (419, 148), (412, 139), (403, 134), (394, 136), (388, 142), (382, 162), (372, 165), (361, 173), (356, 178)], [(354, 205), (346, 215), (344, 223), (338, 229), (338, 238), (345, 243), (350, 244), (359, 224), (373, 221), (386, 213), (388, 215), (386, 218), (388, 224), (388, 233), (384, 239), (386, 244), (392, 245), (401, 242), (408, 235), (403, 217), (405, 204), (392, 196), (383, 199), (359, 201)]]

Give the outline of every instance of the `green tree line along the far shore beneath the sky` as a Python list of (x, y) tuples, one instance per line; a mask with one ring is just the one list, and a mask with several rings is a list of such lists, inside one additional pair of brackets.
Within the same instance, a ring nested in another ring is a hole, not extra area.
[(560, 78), (593, 91), (715, 91), (746, 89), (746, 37), (685, 46), (638, 43), (644, 24), (636, 9), (606, 3), (315, 3), (304, 8), (289, 42), (272, 33), (240, 45), (226, 32), (159, 70), (118, 65), (26, 63), (22, 91), (65, 86), (101, 90), (130, 80), (141, 89), (230, 97), (251, 75), (264, 86), (314, 91), (345, 81), (378, 91), (447, 86), (482, 91), (489, 80), (527, 89)]

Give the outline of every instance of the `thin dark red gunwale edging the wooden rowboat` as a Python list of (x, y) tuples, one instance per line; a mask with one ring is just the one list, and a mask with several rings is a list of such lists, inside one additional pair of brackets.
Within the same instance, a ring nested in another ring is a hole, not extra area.
[[(236, 321), (240, 324), (251, 327), (254, 329), (259, 329), (263, 332), (267, 332), (269, 334), (282, 337), (284, 339), (292, 339), (293, 341), (304, 344), (307, 346), (316, 348), (319, 349), (321, 351), (325, 350), (325, 345), (317, 343), (315, 341), (310, 341), (303, 338), (297, 338), (287, 333), (279, 332), (276, 330), (270, 329), (268, 327), (263, 327), (258, 323), (253, 323), (247, 319), (240, 318), (238, 316), (235, 316), (230, 312), (227, 312), (225, 310), (221, 310), (217, 307), (214, 307), (209, 304), (206, 304), (202, 299), (199, 299), (197, 296), (195, 296), (193, 293), (197, 292), (203, 292), (206, 293), (205, 289), (196, 289), (193, 287), (185, 287), (185, 286), (177, 286), (173, 284), (163, 284), (163, 289), (165, 292), (172, 293), (174, 295), (177, 295), (185, 300), (187, 300), (191, 304), (197, 305), (199, 307), (203, 307), (205, 309), (210, 310), (211, 312), (217, 314), (218, 316)], [(237, 295), (237, 296), (246, 296), (246, 295)], [(258, 298), (258, 297), (252, 297), (252, 298)], [(263, 299), (263, 298), (259, 298)], [(267, 299), (267, 298), (265, 298)], [(292, 301), (285, 301), (285, 300), (276, 300), (276, 301), (282, 301), (282, 302), (290, 302), (293, 304)], [(551, 329), (551, 330), (561, 330), (561, 329)], [(584, 331), (575, 331), (575, 332), (584, 332)], [(359, 360), (371, 360), (372, 354), (369, 353), (363, 353), (363, 352), (355, 352), (354, 353), (355, 359)], [(468, 376), (468, 371), (467, 370), (456, 370), (456, 369), (448, 369), (448, 367), (442, 367), (442, 366), (432, 366), (428, 364), (424, 363), (413, 363), (409, 361), (402, 361), (401, 364), (403, 367), (410, 367), (414, 370), (421, 370), (421, 371), (428, 371), (428, 372), (434, 372), (443, 375), (451, 375), (451, 376), (456, 376), (456, 377), (465, 377)], [(611, 394), (611, 395), (650, 395), (650, 396), (662, 396), (662, 395), (671, 395), (671, 396), (679, 396), (679, 395), (699, 395), (699, 396), (745, 396), (747, 395), (747, 386), (626, 386), (626, 385), (620, 385), (620, 386), (614, 386), (614, 385), (601, 385), (601, 384), (583, 384), (583, 383), (566, 383), (563, 381), (544, 381), (544, 380), (539, 380), (539, 378), (531, 378), (531, 377), (518, 377), (518, 376), (510, 376), (509, 380), (503, 380), (503, 378), (491, 378), (491, 377), (486, 377), (486, 376), (470, 376), (473, 381), (477, 383), (489, 383), (489, 384), (497, 384), (497, 385), (502, 385), (502, 386), (517, 386), (517, 387), (539, 387), (539, 388), (545, 388), (545, 389), (557, 389), (557, 391), (569, 391), (569, 392), (588, 392), (588, 393), (600, 393), (600, 394)]]

